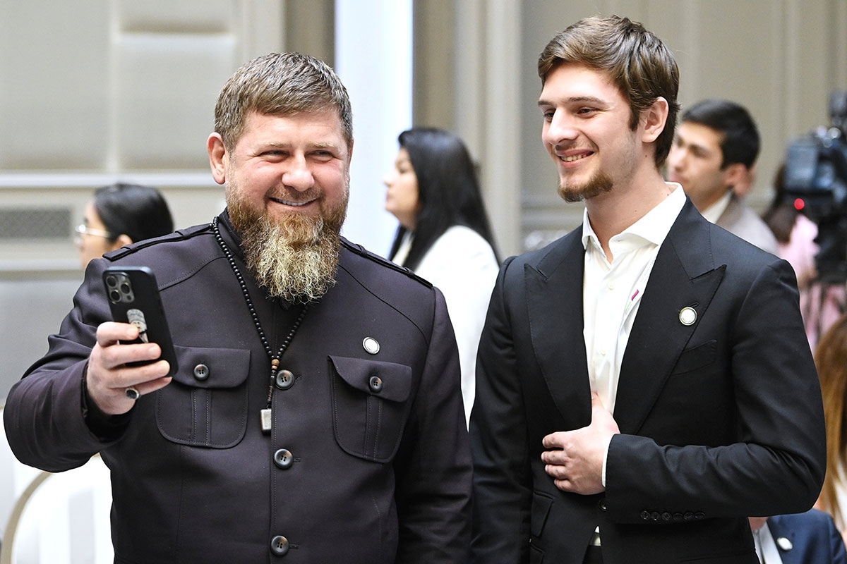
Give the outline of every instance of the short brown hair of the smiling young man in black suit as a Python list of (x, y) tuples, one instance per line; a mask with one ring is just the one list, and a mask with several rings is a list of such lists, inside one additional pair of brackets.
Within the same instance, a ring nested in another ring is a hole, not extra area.
[(660, 96), (667, 100), (665, 129), (656, 139), (656, 167), (662, 167), (673, 145), (679, 104), (679, 68), (673, 54), (644, 26), (618, 16), (580, 19), (557, 34), (538, 57), (541, 85), (564, 63), (606, 71), (629, 102), (629, 127), (638, 127), (641, 112)]

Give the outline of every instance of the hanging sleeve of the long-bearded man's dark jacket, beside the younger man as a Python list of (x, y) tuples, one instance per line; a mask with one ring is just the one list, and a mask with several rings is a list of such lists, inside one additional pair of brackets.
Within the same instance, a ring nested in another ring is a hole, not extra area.
[(435, 320), (426, 366), (395, 463), (396, 561), (464, 564), (473, 467), (456, 339), (444, 296), (433, 291)]

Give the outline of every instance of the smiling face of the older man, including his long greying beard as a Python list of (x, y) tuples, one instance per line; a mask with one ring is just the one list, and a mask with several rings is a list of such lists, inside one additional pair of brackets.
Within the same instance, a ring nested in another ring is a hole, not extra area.
[(335, 283), (352, 149), (340, 132), (335, 112), (253, 113), (223, 157), (247, 268), (292, 303), (318, 299)]

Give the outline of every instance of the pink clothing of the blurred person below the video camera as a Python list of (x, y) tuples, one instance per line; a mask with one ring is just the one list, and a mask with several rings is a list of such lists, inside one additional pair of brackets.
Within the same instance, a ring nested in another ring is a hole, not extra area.
[(817, 225), (806, 216), (799, 215), (794, 221), (788, 244), (779, 244), (779, 256), (788, 260), (794, 268), (800, 286), (800, 313), (803, 315), (805, 335), (812, 350), (817, 339), (841, 315), (847, 291), (844, 286), (828, 286), (822, 298), (822, 287), (815, 278), (815, 243)]

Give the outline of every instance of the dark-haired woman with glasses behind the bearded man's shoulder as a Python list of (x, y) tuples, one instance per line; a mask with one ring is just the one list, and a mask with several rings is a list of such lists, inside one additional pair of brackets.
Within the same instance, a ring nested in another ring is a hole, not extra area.
[(83, 268), (110, 250), (174, 231), (168, 203), (158, 190), (116, 183), (98, 188), (76, 227)]

